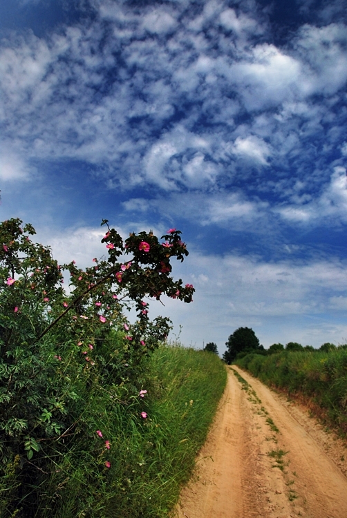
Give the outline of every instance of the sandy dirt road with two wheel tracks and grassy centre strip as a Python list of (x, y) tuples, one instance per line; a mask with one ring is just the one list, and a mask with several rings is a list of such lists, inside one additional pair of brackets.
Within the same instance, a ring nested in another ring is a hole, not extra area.
[(347, 450), (233, 365), (178, 518), (347, 518)]

